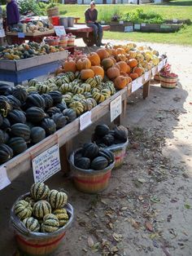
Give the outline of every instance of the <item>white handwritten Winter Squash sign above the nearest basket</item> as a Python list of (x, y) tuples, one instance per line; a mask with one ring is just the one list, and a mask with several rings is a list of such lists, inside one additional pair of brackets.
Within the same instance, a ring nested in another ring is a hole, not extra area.
[(33, 177), (35, 183), (44, 182), (61, 170), (59, 157), (59, 144), (48, 148), (37, 157), (33, 158)]

